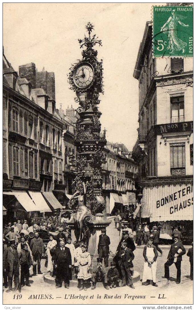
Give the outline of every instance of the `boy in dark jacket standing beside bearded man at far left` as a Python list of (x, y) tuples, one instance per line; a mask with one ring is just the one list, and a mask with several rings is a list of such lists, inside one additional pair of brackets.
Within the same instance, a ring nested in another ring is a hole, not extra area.
[(26, 286), (29, 284), (29, 268), (32, 265), (31, 254), (28, 250), (27, 244), (24, 244), (22, 250), (19, 252), (20, 266), (21, 266), (21, 275), (20, 275), (20, 284), (21, 287), (24, 286), (24, 279), (26, 279)]

